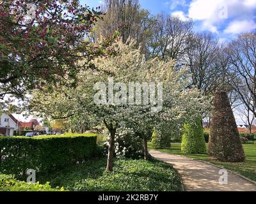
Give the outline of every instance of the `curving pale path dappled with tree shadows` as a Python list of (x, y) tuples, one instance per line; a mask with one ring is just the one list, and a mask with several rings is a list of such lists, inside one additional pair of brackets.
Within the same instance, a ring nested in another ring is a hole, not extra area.
[(220, 184), (221, 168), (195, 159), (150, 150), (156, 159), (179, 171), (186, 191), (256, 191), (256, 185), (228, 171), (228, 184)]

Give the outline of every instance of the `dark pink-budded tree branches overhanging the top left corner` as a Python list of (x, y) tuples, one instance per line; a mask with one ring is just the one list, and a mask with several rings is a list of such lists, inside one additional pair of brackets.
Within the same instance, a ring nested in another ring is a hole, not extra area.
[(76, 60), (92, 54), (84, 38), (100, 15), (79, 0), (0, 1), (0, 99), (23, 98), (41, 79), (74, 79)]

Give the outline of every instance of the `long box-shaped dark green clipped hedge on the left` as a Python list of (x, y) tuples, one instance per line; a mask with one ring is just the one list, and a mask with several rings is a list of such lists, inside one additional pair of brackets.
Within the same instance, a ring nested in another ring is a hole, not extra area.
[(51, 173), (82, 163), (97, 152), (97, 135), (0, 137), (0, 172), (26, 176), (26, 170)]

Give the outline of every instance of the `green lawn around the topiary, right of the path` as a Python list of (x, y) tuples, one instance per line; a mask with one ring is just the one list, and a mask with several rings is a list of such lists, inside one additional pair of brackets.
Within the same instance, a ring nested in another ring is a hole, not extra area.
[[(226, 168), (227, 170), (234, 171), (256, 181), (256, 145), (243, 145), (244, 152), (246, 155), (246, 161), (242, 163), (228, 163), (216, 161), (211, 158), (207, 154), (184, 154), (180, 152), (180, 143), (172, 143), (172, 147), (170, 149), (156, 149), (161, 152), (171, 153), (171, 154), (179, 154), (181, 156), (191, 157), (198, 160), (208, 161), (212, 164), (220, 166), (222, 168)], [(152, 143), (148, 143), (149, 149), (154, 149), (152, 147)]]

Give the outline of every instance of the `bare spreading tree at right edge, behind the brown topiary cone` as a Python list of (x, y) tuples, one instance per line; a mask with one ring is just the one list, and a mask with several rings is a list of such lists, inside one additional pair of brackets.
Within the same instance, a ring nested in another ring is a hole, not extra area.
[(247, 112), (256, 117), (256, 34), (245, 33), (226, 50), (230, 64), (230, 84)]

